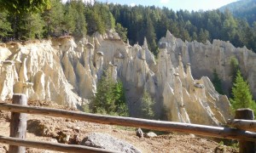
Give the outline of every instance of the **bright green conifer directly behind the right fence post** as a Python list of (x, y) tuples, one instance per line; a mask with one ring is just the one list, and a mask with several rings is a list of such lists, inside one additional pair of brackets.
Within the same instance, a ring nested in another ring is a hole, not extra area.
[(248, 83), (241, 77), (241, 72), (237, 71), (236, 81), (232, 88), (233, 97), (230, 99), (230, 103), (234, 111), (240, 108), (250, 108), (256, 111), (256, 104), (253, 101), (253, 96), (251, 94)]

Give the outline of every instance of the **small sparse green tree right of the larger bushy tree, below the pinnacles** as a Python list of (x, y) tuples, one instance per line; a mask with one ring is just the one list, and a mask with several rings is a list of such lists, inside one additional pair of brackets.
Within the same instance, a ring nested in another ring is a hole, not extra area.
[(146, 119), (154, 119), (154, 99), (144, 90), (141, 103), (139, 105), (139, 117)]

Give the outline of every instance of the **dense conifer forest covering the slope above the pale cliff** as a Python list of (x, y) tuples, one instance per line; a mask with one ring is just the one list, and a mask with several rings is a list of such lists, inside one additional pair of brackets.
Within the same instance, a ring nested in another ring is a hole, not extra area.
[[(169, 30), (183, 41), (212, 42), (213, 39), (230, 41), (236, 47), (246, 46), (256, 51), (256, 22), (234, 17), (229, 10), (192, 11), (154, 6), (131, 7), (113, 3), (83, 3), (82, 0), (41, 0), (36, 7), (32, 3), (23, 6), (0, 2), (0, 40), (2, 42), (34, 38), (72, 35), (75, 38), (104, 33), (115, 29), (119, 36), (131, 44), (143, 43), (158, 52), (157, 42)], [(10, 1), (10, 2), (11, 2)], [(13, 3), (12, 2), (12, 3)], [(31, 1), (35, 2), (35, 1)], [(22, 8), (23, 7), (23, 8)]]

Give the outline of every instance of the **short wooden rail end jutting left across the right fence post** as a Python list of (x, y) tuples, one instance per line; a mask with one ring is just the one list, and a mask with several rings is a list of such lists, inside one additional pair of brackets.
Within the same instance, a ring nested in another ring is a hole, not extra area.
[(234, 120), (229, 120), (228, 124), (230, 127), (236, 127), (238, 129), (256, 132), (255, 120), (234, 119)]

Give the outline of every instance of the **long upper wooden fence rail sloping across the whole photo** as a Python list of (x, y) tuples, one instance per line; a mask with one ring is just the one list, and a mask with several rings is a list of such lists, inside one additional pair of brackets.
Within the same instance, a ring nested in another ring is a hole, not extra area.
[(256, 141), (256, 133), (229, 127), (212, 127), (182, 122), (163, 122), (122, 116), (102, 116), (79, 111), (67, 111), (34, 106), (12, 105), (0, 103), (0, 110), (24, 112), (46, 116), (67, 117), (84, 122), (119, 125), (126, 127), (142, 127), (166, 132), (194, 133), (196, 135), (223, 139), (247, 139)]

